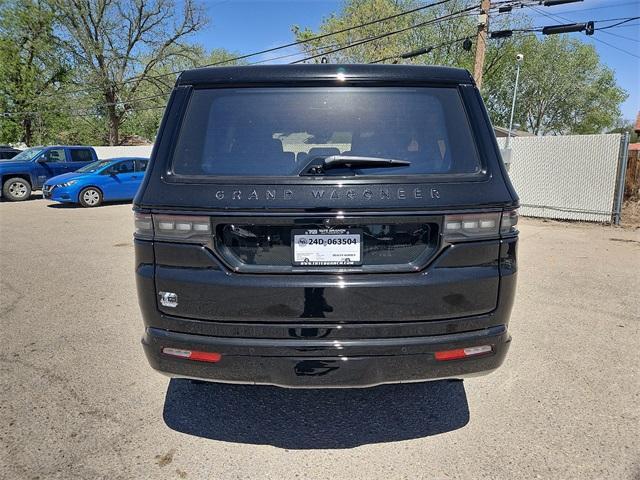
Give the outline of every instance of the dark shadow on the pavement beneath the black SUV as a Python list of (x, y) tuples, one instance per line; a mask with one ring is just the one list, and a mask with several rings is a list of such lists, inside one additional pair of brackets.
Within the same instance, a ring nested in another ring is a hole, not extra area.
[(464, 427), (462, 381), (364, 389), (286, 389), (172, 379), (164, 421), (178, 432), (288, 449), (352, 448)]

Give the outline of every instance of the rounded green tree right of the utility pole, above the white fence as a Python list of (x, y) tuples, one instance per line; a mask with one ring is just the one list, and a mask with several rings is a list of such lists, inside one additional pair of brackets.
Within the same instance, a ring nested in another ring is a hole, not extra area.
[(507, 125), (513, 95), (516, 52), (524, 54), (514, 122), (536, 135), (599, 133), (620, 116), (626, 92), (591, 45), (567, 35), (507, 42), (485, 83), (494, 123)]

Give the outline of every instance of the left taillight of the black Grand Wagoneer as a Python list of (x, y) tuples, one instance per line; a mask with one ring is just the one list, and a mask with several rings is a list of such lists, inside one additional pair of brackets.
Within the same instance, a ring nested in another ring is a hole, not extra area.
[(135, 236), (143, 239), (204, 242), (211, 238), (209, 217), (135, 214)]

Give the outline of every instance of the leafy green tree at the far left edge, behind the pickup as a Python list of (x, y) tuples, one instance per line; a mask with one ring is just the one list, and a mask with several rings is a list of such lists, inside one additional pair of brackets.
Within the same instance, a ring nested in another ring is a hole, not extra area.
[(48, 96), (68, 79), (70, 65), (53, 35), (54, 12), (39, 0), (0, 6), (0, 140), (43, 142), (60, 122), (59, 102)]

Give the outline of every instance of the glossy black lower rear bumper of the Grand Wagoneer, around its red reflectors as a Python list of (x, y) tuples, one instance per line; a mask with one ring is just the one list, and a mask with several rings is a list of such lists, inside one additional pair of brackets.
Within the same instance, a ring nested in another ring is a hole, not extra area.
[[(430, 337), (367, 340), (222, 338), (147, 328), (142, 339), (150, 365), (169, 376), (282, 387), (368, 387), (464, 378), (498, 368), (511, 337), (504, 325)], [(434, 353), (491, 345), (487, 354), (439, 361)], [(217, 363), (171, 357), (163, 347), (217, 352)]]

